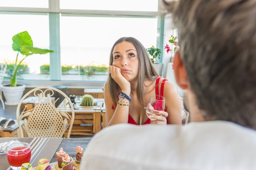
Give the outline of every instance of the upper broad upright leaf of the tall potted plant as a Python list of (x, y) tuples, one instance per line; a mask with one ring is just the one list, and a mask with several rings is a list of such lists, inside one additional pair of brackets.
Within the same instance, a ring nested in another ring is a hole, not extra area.
[(12, 49), (14, 51), (20, 51), (23, 45), (33, 47), (33, 41), (27, 31), (20, 32), (12, 37)]

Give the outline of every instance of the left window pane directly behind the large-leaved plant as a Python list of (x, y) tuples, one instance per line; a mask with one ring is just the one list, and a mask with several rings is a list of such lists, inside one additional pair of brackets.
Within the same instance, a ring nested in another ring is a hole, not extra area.
[[(0, 15), (0, 20), (4, 27), (1, 27), (0, 40), (0, 60), (6, 62), (11, 67), (16, 60), (18, 51), (12, 49), (12, 37), (22, 31), (28, 31), (34, 47), (49, 48), (49, 19), (47, 15)], [(19, 54), (18, 59), (22, 59)], [(26, 67), (20, 67), (18, 71), (19, 79), (41, 80), (49, 79), (40, 74), (40, 65), (47, 63), (49, 65), (49, 54), (34, 54), (28, 56), (23, 62)], [(11, 77), (7, 67), (6, 78)]]

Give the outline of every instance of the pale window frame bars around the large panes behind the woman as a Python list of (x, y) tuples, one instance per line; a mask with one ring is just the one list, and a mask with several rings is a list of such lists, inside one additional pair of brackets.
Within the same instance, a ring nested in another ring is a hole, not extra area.
[[(157, 18), (157, 48), (163, 50), (164, 18), (159, 17), (155, 11), (109, 11), (109, 10), (77, 10), (60, 9), (59, 0), (49, 0), (49, 8), (0, 7), (0, 14), (22, 15), (48, 15), (49, 16), (49, 49), (56, 51), (50, 53), (50, 81), (18, 80), (29, 87), (40, 85), (67, 85), (68, 87), (102, 88), (105, 81), (61, 81), (61, 46), (60, 46), (60, 17), (61, 16), (88, 16), (88, 17), (128, 17), (128, 18)], [(159, 3), (159, 2), (158, 2)], [(160, 10), (160, 7), (158, 7)], [(162, 52), (162, 54), (163, 54)], [(159, 62), (163, 61), (161, 54)], [(55, 81), (54, 81), (55, 80)], [(75, 82), (75, 83), (74, 83)], [(86, 83), (85, 83), (86, 82)], [(4, 79), (9, 83), (9, 79)]]

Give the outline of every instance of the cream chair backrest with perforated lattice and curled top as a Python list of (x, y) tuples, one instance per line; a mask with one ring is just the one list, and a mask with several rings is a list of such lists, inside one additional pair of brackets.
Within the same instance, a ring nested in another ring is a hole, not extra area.
[[(55, 102), (59, 98), (55, 98), (52, 102), (52, 96), (58, 93), (64, 96), (63, 107), (64, 110), (57, 110)], [(34, 97), (31, 97), (34, 96)], [(24, 99), (32, 98), (30, 105), (24, 103)], [(66, 111), (66, 105), (72, 113)], [(65, 131), (68, 129), (67, 138), (70, 137), (72, 126), (74, 123), (74, 107), (70, 98), (61, 90), (54, 87), (36, 87), (27, 92), (20, 100), (17, 110), (16, 118), (22, 137), (22, 128), (26, 131), (28, 137), (63, 137)]]

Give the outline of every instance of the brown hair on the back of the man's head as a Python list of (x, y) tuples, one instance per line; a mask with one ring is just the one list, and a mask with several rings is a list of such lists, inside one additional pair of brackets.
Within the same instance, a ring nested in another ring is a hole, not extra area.
[(256, 0), (178, 0), (166, 9), (198, 107), (256, 129)]

